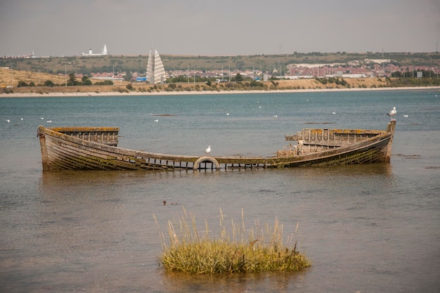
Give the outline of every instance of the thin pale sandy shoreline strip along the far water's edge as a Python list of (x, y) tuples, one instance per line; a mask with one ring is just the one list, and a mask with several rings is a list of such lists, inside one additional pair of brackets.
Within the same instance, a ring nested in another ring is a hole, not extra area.
[(106, 92), (53, 92), (53, 93), (0, 93), (0, 98), (38, 98), (38, 97), (82, 97), (82, 96), (187, 96), (187, 95), (210, 95), (210, 94), (249, 94), (249, 93), (318, 93), (318, 92), (337, 92), (337, 91), (440, 91), (440, 86), (403, 86), (403, 87), (384, 87), (369, 89), (279, 89), (279, 90), (254, 90), (254, 91), (151, 91), (119, 93), (117, 91)]

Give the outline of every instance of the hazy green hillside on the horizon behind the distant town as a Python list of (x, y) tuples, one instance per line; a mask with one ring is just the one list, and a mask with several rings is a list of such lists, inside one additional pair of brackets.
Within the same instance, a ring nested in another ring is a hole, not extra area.
[[(284, 70), (292, 63), (349, 63), (365, 59), (390, 59), (396, 65), (440, 66), (440, 53), (292, 53), (254, 56), (172, 56), (162, 55), (165, 70)], [(0, 67), (32, 72), (139, 72), (145, 74), (148, 55), (72, 56), (47, 58), (0, 58)]]

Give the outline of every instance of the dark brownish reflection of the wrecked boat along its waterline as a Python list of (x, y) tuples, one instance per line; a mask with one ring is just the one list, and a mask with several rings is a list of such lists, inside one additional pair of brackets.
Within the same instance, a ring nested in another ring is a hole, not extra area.
[[(338, 167), (313, 167), (313, 168), (292, 168), (292, 169), (266, 169), (266, 170), (228, 170), (228, 171), (48, 171), (41, 172), (39, 188), (45, 195), (63, 195), (63, 193), (75, 192), (76, 189), (90, 190), (91, 193), (105, 194), (106, 190), (115, 190), (121, 186), (131, 185), (139, 181), (148, 181), (154, 178), (179, 178), (181, 176), (224, 176), (224, 173), (258, 173), (273, 172), (277, 175), (298, 176), (307, 178), (344, 178), (344, 176), (384, 176), (392, 178), (392, 164), (354, 164)], [(84, 192), (83, 190), (83, 192)]]

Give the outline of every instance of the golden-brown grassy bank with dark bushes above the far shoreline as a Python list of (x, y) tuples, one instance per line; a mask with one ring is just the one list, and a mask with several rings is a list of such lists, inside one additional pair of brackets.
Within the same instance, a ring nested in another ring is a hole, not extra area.
[[(34, 96), (48, 93), (69, 93), (70, 95), (96, 94), (147, 94), (147, 93), (190, 93), (190, 92), (228, 92), (228, 91), (302, 91), (323, 89), (385, 89), (399, 87), (440, 87), (440, 79), (417, 78), (313, 78), (313, 79), (274, 79), (268, 82), (222, 82), (206, 84), (205, 82), (181, 82), (164, 85), (146, 84), (145, 82), (114, 81), (113, 84), (97, 85), (100, 79), (91, 78), (91, 85), (67, 86), (65, 74), (48, 74), (30, 72), (27, 70), (11, 70), (0, 68), (0, 97), (1, 96)], [(46, 81), (53, 82), (53, 86), (43, 86)], [(19, 86), (22, 82), (27, 86)], [(14, 84), (13, 87), (10, 85)], [(32, 86), (29, 86), (32, 84)]]

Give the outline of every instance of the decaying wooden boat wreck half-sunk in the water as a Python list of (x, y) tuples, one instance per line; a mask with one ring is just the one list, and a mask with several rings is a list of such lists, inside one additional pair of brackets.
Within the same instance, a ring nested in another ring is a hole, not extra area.
[(44, 171), (257, 169), (390, 162), (396, 121), (386, 130), (302, 129), (273, 157), (167, 155), (117, 147), (118, 127), (39, 126)]

